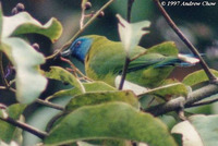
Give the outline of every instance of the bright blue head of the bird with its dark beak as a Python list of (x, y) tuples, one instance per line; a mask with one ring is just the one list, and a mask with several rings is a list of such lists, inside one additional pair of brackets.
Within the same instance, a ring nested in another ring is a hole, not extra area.
[(84, 62), (85, 57), (90, 49), (93, 39), (90, 37), (80, 37), (63, 52), (61, 57), (75, 57), (80, 61)]

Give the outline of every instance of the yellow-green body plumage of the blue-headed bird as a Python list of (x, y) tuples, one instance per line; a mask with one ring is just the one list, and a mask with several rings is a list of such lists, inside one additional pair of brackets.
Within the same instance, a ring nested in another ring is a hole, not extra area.
[[(85, 58), (87, 76), (96, 81), (105, 81), (114, 86), (114, 78), (121, 74), (125, 60), (122, 44), (108, 40), (102, 36), (92, 35), (85, 37), (93, 40)], [(126, 80), (142, 86), (155, 87), (160, 85), (174, 69), (174, 65), (161, 66), (161, 64), (178, 59), (178, 49), (171, 41), (147, 50), (137, 46), (130, 53), (130, 57), (133, 58), (145, 51), (146, 54), (130, 63)]]

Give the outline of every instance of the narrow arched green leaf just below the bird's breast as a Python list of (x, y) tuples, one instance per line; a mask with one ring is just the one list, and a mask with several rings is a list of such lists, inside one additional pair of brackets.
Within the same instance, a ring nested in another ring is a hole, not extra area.
[(60, 66), (50, 66), (50, 69), (51, 70), (49, 72), (45, 73), (47, 77), (69, 83), (82, 93), (85, 93), (84, 86), (72, 73)]

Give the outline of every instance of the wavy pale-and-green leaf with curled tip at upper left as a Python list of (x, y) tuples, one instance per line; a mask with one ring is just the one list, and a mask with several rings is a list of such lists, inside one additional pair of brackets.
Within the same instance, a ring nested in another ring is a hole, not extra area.
[(53, 42), (61, 36), (62, 26), (60, 22), (53, 17), (45, 25), (41, 25), (37, 20), (33, 19), (26, 12), (21, 12), (13, 16), (3, 17), (3, 37), (29, 33), (47, 36)]

